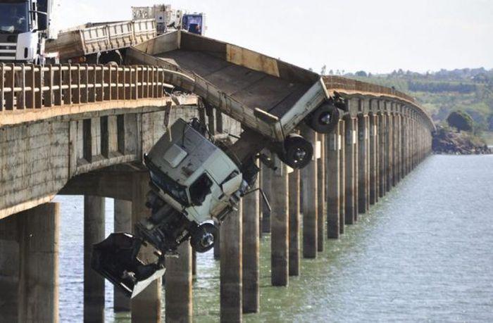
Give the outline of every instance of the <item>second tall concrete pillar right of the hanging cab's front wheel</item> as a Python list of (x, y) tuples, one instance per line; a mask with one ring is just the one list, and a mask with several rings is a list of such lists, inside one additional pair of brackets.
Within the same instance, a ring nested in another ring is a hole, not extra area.
[[(258, 189), (258, 179), (251, 189)], [(243, 198), (243, 312), (256, 313), (260, 306), (260, 194), (258, 191)]]

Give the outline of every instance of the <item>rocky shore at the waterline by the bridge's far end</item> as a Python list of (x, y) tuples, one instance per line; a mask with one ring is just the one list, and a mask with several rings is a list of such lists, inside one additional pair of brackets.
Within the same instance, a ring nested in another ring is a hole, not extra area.
[(434, 153), (450, 155), (482, 155), (493, 153), (482, 139), (468, 132), (454, 132), (437, 126), (433, 135), (432, 149)]

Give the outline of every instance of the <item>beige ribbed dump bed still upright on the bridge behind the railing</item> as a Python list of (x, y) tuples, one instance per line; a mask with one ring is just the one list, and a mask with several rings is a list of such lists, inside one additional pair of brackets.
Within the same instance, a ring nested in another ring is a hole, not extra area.
[(57, 39), (46, 43), (46, 50), (57, 52), (61, 61), (121, 63), (121, 49), (146, 42), (156, 34), (154, 19), (87, 23), (61, 30)]

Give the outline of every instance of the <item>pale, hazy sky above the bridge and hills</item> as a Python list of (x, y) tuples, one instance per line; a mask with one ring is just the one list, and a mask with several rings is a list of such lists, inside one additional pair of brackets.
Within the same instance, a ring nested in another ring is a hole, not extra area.
[(493, 0), (56, 1), (61, 28), (129, 20), (132, 6), (204, 12), (206, 36), (316, 72), (493, 68)]

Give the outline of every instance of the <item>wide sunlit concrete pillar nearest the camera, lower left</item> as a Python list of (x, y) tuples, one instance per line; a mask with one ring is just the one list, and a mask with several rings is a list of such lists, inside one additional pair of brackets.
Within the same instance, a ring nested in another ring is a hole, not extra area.
[(60, 205), (46, 203), (16, 216), (20, 228), (18, 322), (58, 322)]

